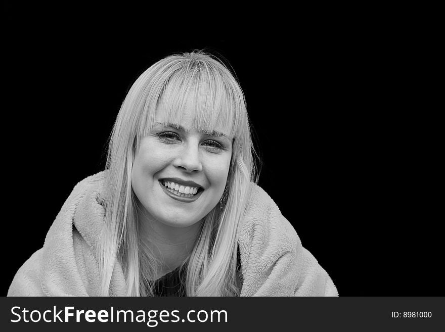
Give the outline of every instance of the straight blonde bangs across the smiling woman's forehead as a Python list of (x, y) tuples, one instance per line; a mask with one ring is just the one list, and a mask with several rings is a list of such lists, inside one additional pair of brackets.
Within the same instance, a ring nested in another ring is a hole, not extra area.
[[(246, 126), (244, 96), (238, 83), (206, 63), (189, 64), (168, 77), (156, 103), (163, 124), (180, 124), (188, 102), (198, 131), (217, 131), (233, 138)], [(153, 126), (154, 117), (148, 119), (148, 128)]]

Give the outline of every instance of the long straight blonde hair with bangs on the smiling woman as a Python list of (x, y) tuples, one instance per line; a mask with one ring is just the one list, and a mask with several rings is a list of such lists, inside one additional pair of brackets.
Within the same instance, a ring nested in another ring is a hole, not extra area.
[(244, 93), (217, 58), (195, 51), (164, 58), (129, 89), (110, 137), (107, 155), (105, 220), (99, 248), (101, 294), (109, 296), (115, 265), (125, 275), (127, 296), (153, 296), (150, 279), (159, 262), (144, 248), (138, 225), (138, 201), (131, 169), (144, 138), (162, 106), (164, 122), (180, 123), (188, 98), (198, 130), (222, 130), (233, 138), (224, 210), (217, 204), (203, 219), (194, 249), (183, 264), (187, 296), (239, 296), (237, 244), (239, 226), (257, 182)]

